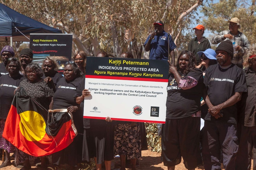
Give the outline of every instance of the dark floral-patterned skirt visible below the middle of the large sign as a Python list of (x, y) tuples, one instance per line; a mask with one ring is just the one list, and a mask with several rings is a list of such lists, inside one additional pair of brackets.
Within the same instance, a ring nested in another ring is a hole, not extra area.
[(140, 127), (138, 124), (117, 124), (115, 127), (114, 152), (127, 155), (127, 159), (141, 158)]

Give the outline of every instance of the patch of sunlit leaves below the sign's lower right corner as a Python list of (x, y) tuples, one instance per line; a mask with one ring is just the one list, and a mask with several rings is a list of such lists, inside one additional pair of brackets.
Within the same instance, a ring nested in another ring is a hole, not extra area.
[(162, 152), (161, 136), (157, 133), (157, 124), (145, 123), (147, 142), (153, 152)]

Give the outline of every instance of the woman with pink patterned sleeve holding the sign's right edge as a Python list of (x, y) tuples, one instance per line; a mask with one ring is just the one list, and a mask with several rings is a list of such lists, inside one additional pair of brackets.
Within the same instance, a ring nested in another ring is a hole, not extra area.
[(199, 147), (200, 99), (203, 74), (192, 52), (183, 51), (174, 67), (170, 61), (166, 122), (162, 126), (162, 156), (168, 170), (181, 162), (192, 170), (201, 164)]

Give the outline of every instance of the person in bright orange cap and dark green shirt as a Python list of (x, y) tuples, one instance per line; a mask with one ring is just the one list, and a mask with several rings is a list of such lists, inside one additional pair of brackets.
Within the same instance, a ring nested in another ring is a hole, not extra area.
[(204, 33), (204, 26), (197, 25), (195, 28), (195, 35), (196, 37), (193, 38), (189, 42), (188, 51), (191, 51), (196, 58), (196, 64), (199, 65), (201, 62), (200, 56), (197, 54), (199, 51), (205, 51), (208, 48), (211, 48), (210, 42), (207, 38), (203, 37)]

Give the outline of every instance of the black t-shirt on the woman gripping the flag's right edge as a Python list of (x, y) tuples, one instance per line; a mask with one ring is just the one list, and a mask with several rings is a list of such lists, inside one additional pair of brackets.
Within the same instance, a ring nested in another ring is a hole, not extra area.
[(81, 79), (81, 77), (78, 77), (75, 80), (66, 81), (62, 77), (57, 83), (56, 92), (53, 95), (53, 109), (67, 109), (69, 106), (78, 106), (78, 110), (72, 113), (78, 133), (83, 133), (83, 113), (73, 96)]

